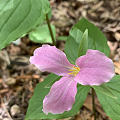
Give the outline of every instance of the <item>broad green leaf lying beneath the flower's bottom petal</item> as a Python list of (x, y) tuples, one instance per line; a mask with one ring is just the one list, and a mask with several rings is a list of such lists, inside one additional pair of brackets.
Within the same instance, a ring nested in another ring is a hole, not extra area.
[(42, 83), (39, 83), (35, 89), (34, 95), (29, 102), (29, 107), (25, 120), (37, 120), (37, 119), (61, 119), (75, 115), (80, 107), (83, 105), (86, 96), (90, 90), (88, 86), (78, 85), (78, 92), (76, 95), (75, 104), (72, 110), (64, 112), (63, 114), (48, 114), (45, 115), (42, 112), (43, 99), (48, 94), (52, 84), (59, 80), (60, 77), (54, 74), (50, 74)]

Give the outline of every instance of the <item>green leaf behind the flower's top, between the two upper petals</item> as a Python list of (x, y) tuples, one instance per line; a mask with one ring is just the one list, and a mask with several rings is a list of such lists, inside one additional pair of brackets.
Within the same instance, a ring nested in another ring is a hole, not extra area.
[[(86, 37), (82, 38), (86, 29), (89, 31), (89, 33), (87, 35), (86, 32), (84, 34)], [(90, 23), (85, 18), (82, 18), (72, 27), (70, 31), (70, 35), (65, 45), (65, 53), (69, 61), (72, 64), (75, 64), (76, 59), (79, 56), (84, 55), (87, 48), (97, 49), (105, 53), (107, 56), (109, 56), (110, 53), (109, 47), (107, 45), (107, 39), (104, 34), (94, 24)]]

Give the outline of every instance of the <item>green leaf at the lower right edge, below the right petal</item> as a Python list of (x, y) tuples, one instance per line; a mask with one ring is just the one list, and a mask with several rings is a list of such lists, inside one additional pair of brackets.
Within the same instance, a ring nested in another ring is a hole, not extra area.
[(116, 75), (108, 83), (93, 88), (106, 114), (112, 120), (120, 120), (120, 75)]

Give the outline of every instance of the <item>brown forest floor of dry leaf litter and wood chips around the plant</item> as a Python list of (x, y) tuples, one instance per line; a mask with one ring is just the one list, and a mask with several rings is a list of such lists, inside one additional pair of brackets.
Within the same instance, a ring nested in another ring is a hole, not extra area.
[[(57, 36), (69, 35), (70, 28), (81, 17), (87, 18), (106, 35), (115, 72), (120, 74), (120, 1), (50, 0), (50, 3), (51, 23), (56, 26)], [(64, 50), (64, 44), (65, 41), (57, 41), (61, 50)], [(19, 45), (11, 44), (0, 51), (0, 120), (24, 120), (36, 84), (48, 75), (29, 63), (34, 49), (40, 46), (25, 36)], [(80, 112), (65, 120), (93, 120), (91, 101), (89, 93)], [(97, 120), (111, 120), (97, 98), (95, 102)]]

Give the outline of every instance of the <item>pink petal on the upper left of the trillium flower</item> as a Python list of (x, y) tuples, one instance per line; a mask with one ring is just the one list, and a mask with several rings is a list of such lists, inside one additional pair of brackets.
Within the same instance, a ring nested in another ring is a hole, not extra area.
[(34, 56), (30, 58), (30, 62), (42, 72), (53, 72), (61, 76), (68, 75), (68, 70), (73, 66), (67, 60), (64, 52), (50, 45), (37, 48), (34, 51)]

